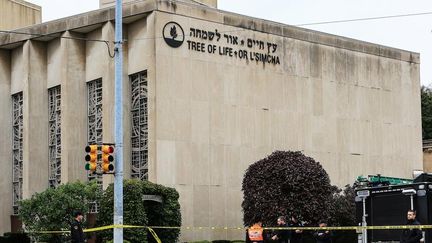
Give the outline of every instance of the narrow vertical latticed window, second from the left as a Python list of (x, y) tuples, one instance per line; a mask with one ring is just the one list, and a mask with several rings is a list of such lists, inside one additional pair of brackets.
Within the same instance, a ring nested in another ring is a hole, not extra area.
[(49, 186), (61, 183), (61, 94), (60, 86), (48, 89)]

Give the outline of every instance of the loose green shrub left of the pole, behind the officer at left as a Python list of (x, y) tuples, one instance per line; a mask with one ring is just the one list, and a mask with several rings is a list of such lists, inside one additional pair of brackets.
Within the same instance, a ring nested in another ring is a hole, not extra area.
[[(67, 183), (49, 188), (22, 200), (19, 216), (26, 232), (70, 229), (73, 212), (88, 211), (88, 203), (97, 201), (101, 191), (96, 183)], [(63, 241), (60, 235), (33, 235), (42, 241)]]

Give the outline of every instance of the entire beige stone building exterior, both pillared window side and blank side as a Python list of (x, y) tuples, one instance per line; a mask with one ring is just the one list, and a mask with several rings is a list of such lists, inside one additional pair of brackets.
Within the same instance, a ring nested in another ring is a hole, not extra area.
[[(125, 177), (129, 77), (146, 71), (148, 178), (179, 191), (184, 226), (242, 226), (243, 173), (275, 150), (303, 151), (339, 186), (422, 169), (419, 54), (200, 4), (148, 0), (123, 11)], [(89, 81), (102, 79), (103, 141), (114, 140), (113, 59), (90, 41), (114, 39), (113, 16), (105, 8), (21, 30), (42, 38), (0, 35), (0, 167), (13, 170), (11, 95), (22, 92), (23, 198), (49, 185), (49, 88), (61, 87), (62, 183), (86, 180)], [(5, 232), (12, 175), (0, 192)], [(185, 241), (225, 238), (243, 232), (182, 232)]]

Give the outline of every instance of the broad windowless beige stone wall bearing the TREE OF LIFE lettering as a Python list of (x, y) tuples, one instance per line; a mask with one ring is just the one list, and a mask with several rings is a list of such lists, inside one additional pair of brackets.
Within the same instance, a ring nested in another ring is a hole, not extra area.
[[(245, 30), (247, 18), (222, 22), (196, 11), (212, 22), (199, 21), (182, 10), (156, 16), (155, 35), (175, 22), (185, 38), (177, 48), (156, 41), (150, 151), (155, 180), (180, 192), (184, 225), (241, 226), (244, 171), (275, 150), (313, 157), (338, 186), (376, 173), (410, 178), (421, 169), (418, 63), (342, 37), (302, 29), (287, 36), (257, 22), (250, 26), (260, 32)], [(212, 230), (182, 236), (243, 237)]]

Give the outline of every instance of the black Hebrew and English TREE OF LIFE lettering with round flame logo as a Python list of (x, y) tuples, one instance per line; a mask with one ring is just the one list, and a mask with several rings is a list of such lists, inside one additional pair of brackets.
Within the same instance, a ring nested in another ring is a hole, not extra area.
[[(190, 28), (188, 35), (176, 22), (169, 22), (164, 30), (165, 42), (173, 47), (186, 44), (188, 50), (213, 55), (237, 58), (246, 62), (280, 65), (278, 45), (273, 42), (245, 38), (234, 32), (219, 32)], [(185, 37), (188, 39), (185, 40)]]

